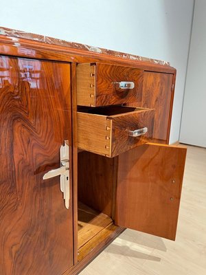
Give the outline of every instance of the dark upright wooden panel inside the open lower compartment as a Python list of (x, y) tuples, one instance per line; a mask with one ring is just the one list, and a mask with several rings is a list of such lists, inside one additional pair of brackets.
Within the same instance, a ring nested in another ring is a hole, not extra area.
[(112, 217), (115, 159), (78, 153), (78, 199)]

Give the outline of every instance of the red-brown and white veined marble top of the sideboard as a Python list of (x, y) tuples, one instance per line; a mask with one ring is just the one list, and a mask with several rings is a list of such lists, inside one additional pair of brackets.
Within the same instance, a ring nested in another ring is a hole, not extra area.
[(124, 52), (116, 52), (113, 50), (106, 50), (101, 47), (93, 47), (93, 46), (84, 45), (84, 44), (80, 44), (80, 43), (76, 43), (76, 42), (65, 41), (62, 39), (54, 39), (49, 36), (43, 36), (40, 34), (32, 34), (30, 32), (23, 32), (20, 30), (12, 30), (12, 29), (8, 29), (8, 28), (0, 27), (0, 34), (5, 35), (5, 36), (19, 38), (19, 39), (29, 39), (32, 41), (47, 43), (50, 45), (60, 45), (60, 46), (64, 46), (64, 47), (71, 47), (73, 49), (95, 52), (98, 54), (107, 54), (109, 56), (122, 57), (122, 58), (130, 59), (133, 61), (146, 61), (146, 62), (153, 63), (153, 64), (170, 66), (170, 63), (167, 61), (159, 61), (154, 58), (136, 56), (135, 54), (125, 54)]

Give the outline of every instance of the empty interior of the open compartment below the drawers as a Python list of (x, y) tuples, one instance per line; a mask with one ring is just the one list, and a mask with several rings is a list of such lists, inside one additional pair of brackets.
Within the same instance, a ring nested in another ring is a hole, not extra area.
[(111, 234), (115, 158), (87, 151), (78, 153), (78, 260)]

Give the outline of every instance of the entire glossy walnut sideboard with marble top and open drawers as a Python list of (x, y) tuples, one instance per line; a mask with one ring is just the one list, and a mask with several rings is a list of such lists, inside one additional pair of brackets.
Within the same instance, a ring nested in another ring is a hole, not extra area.
[(78, 274), (125, 228), (175, 239), (168, 63), (0, 28), (0, 274)]

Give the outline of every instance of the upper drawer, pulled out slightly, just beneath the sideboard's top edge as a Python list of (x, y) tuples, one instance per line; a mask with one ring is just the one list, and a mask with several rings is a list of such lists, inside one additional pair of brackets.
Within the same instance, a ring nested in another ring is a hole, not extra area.
[(89, 107), (141, 102), (143, 69), (80, 63), (77, 65), (77, 104)]

